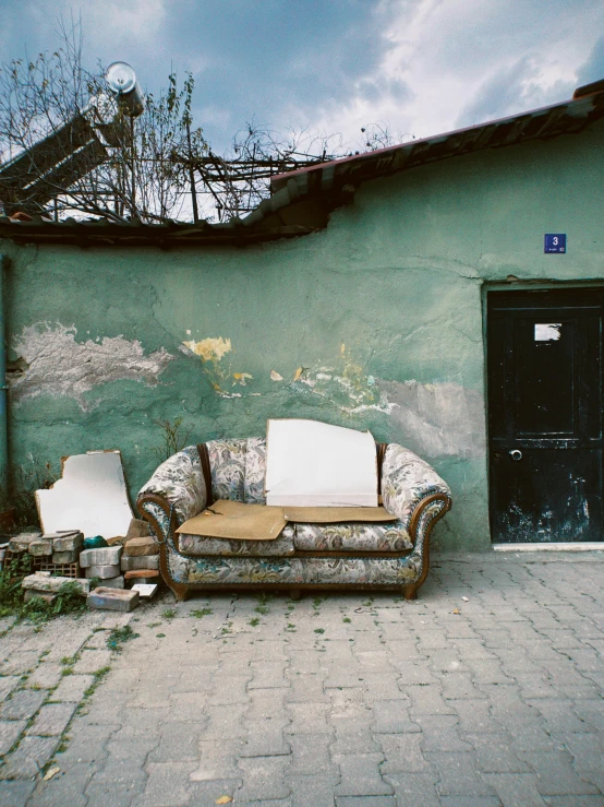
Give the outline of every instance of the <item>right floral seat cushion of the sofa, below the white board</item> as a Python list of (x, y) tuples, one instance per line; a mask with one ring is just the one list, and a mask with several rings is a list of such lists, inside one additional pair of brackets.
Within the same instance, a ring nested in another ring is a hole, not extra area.
[(400, 521), (295, 524), (293, 545), (301, 551), (406, 551), (413, 548)]

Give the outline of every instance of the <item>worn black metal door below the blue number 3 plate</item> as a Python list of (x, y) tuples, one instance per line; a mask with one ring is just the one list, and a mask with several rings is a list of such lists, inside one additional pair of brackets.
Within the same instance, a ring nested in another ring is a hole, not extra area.
[(599, 288), (487, 298), (491, 532), (602, 541)]

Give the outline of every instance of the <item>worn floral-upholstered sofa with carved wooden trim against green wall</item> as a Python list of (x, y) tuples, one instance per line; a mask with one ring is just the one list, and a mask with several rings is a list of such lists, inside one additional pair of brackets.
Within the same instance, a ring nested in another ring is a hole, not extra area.
[[(287, 524), (275, 541), (177, 534), (212, 500), (265, 503), (266, 440), (212, 440), (164, 462), (136, 506), (160, 543), (160, 569), (178, 600), (191, 589), (382, 589), (413, 600), (430, 565), (430, 535), (451, 507), (434, 468), (396, 443), (377, 446), (388, 523)], [(203, 458), (203, 462), (202, 462)], [(204, 468), (205, 465), (205, 468)], [(208, 467), (209, 465), (209, 467)]]

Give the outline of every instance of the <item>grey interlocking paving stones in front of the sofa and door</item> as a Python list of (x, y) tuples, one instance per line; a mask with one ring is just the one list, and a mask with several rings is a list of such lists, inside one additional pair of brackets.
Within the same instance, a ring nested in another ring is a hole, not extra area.
[(604, 805), (603, 589), (601, 553), (449, 555), (413, 603), (5, 622), (0, 805)]

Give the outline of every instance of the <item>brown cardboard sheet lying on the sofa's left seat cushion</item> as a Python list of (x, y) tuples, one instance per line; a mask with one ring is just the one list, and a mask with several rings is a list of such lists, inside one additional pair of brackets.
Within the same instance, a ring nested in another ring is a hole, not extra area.
[(177, 532), (231, 541), (275, 541), (286, 524), (282, 507), (218, 499)]

